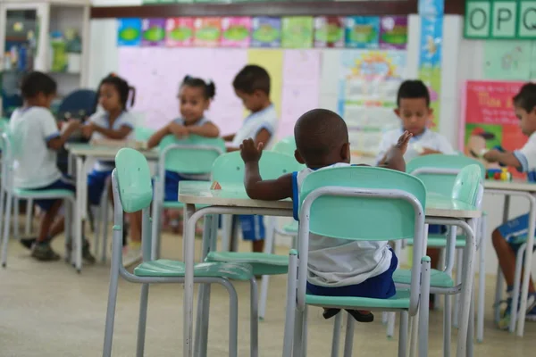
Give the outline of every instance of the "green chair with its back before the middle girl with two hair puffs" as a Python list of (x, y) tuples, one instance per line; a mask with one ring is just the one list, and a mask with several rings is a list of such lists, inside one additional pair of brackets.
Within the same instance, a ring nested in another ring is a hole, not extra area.
[[(198, 137), (191, 135), (177, 139), (172, 135), (163, 137), (158, 145), (158, 174), (155, 178), (155, 201), (153, 203), (153, 220), (160, 222), (164, 208), (180, 210), (184, 204), (179, 201), (164, 201), (165, 171), (190, 175), (192, 179), (209, 179), (213, 163), (225, 152), (225, 142), (219, 138)], [(160, 257), (160, 224), (153, 225), (152, 259)]]

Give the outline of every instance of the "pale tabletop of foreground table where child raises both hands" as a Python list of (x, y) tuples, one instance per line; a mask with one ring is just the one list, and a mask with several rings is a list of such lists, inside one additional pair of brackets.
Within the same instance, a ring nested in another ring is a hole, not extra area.
[[(282, 201), (252, 200), (246, 194), (246, 188), (241, 184), (221, 184), (222, 189), (211, 190), (211, 182), (180, 181), (179, 201), (181, 203), (208, 204), (226, 207), (276, 208), (292, 210), (290, 199)], [(428, 195), (426, 197), (426, 212), (429, 217), (440, 218), (478, 218), (482, 212), (474, 206), (456, 201), (443, 195)]]

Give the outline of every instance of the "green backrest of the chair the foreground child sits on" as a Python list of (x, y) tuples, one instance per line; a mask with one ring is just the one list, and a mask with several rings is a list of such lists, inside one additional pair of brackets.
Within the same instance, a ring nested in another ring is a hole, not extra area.
[(393, 193), (405, 192), (415, 196), (422, 207), (426, 205), (426, 188), (420, 179), (395, 170), (358, 166), (318, 170), (308, 175), (300, 190), (300, 210), (306, 197), (322, 187), (375, 192), (316, 198), (310, 210), (309, 230), (326, 237), (369, 241), (414, 237), (414, 207)]

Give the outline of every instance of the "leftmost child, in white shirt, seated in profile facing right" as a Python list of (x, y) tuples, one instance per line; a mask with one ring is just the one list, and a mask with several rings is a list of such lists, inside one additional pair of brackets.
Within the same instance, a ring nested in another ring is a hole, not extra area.
[[(50, 104), (56, 95), (54, 79), (41, 72), (31, 72), (21, 83), (24, 106), (13, 112), (10, 131), (13, 134), (15, 159), (14, 186), (31, 190), (64, 189), (75, 191), (71, 179), (63, 177), (56, 165), (56, 153), (71, 134), (80, 129), (80, 121), (71, 120), (60, 134)], [(38, 207), (45, 212), (39, 226), (38, 238), (32, 243), (31, 256), (38, 261), (57, 261), (50, 242), (54, 219), (62, 205), (62, 200), (36, 200)], [(63, 224), (61, 221), (60, 224)], [(89, 253), (88, 241), (84, 240), (82, 256), (86, 262), (95, 262)]]

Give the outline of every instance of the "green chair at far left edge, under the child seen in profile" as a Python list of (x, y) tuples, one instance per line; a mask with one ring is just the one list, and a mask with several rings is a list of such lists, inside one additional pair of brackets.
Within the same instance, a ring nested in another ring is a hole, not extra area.
[[(31, 201), (34, 199), (58, 199), (67, 203), (67, 209), (65, 210), (65, 246), (71, 241), (71, 210), (76, 207), (76, 198), (73, 192), (64, 189), (49, 189), (49, 190), (30, 190), (14, 187), (14, 160), (16, 157), (17, 148), (19, 143), (13, 134), (4, 131), (2, 133), (2, 192), (0, 193), (0, 218), (4, 218), (4, 226), (0, 220), (0, 230), (4, 228), (3, 233), (3, 245), (2, 245), (2, 266), (5, 268), (7, 265), (7, 243), (9, 241), (9, 230), (12, 212), (12, 203), (14, 202), (14, 217), (18, 216), (18, 202), (19, 200)], [(5, 211), (4, 211), (5, 205)], [(18, 221), (14, 223), (14, 236), (18, 237)], [(82, 242), (76, 242), (76, 268), (80, 272), (82, 269)], [(67, 249), (66, 249), (67, 250)], [(67, 250), (69, 251), (69, 250)]]

